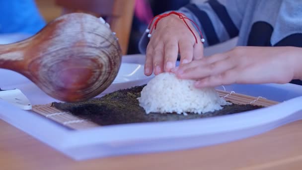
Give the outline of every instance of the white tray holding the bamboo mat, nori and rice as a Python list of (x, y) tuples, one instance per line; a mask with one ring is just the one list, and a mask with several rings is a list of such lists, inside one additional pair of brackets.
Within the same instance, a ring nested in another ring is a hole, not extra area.
[[(123, 61), (142, 63), (144, 58), (130, 56)], [(33, 105), (55, 101), (19, 74), (0, 70), (0, 77), (0, 87), (21, 89)], [(124, 85), (144, 84), (146, 81), (148, 78), (142, 77)], [(116, 88), (112, 85), (106, 92)], [(227, 91), (256, 97), (261, 95), (282, 103), (198, 120), (112, 125), (76, 131), (0, 100), (0, 118), (75, 160), (215, 145), (254, 136), (302, 119), (302, 87), (299, 85), (228, 85), (226, 88)]]

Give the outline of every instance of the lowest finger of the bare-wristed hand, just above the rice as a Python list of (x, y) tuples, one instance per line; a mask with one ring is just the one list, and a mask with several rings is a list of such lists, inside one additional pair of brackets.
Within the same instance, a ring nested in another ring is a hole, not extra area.
[(237, 79), (240, 77), (240, 72), (236, 69), (230, 69), (222, 74), (206, 77), (195, 83), (195, 87), (215, 87), (219, 85), (230, 85), (237, 83)]

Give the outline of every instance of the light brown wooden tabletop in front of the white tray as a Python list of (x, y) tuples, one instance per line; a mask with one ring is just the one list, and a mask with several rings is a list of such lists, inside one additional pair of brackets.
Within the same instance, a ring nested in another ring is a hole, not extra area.
[(302, 121), (185, 151), (76, 162), (0, 120), (0, 170), (302, 170)]

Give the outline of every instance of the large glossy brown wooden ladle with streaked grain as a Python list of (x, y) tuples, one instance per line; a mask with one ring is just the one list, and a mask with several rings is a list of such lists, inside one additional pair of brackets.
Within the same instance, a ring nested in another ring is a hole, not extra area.
[(84, 13), (60, 16), (26, 40), (0, 45), (0, 68), (20, 73), (68, 102), (104, 91), (116, 78), (121, 57), (109, 25)]

